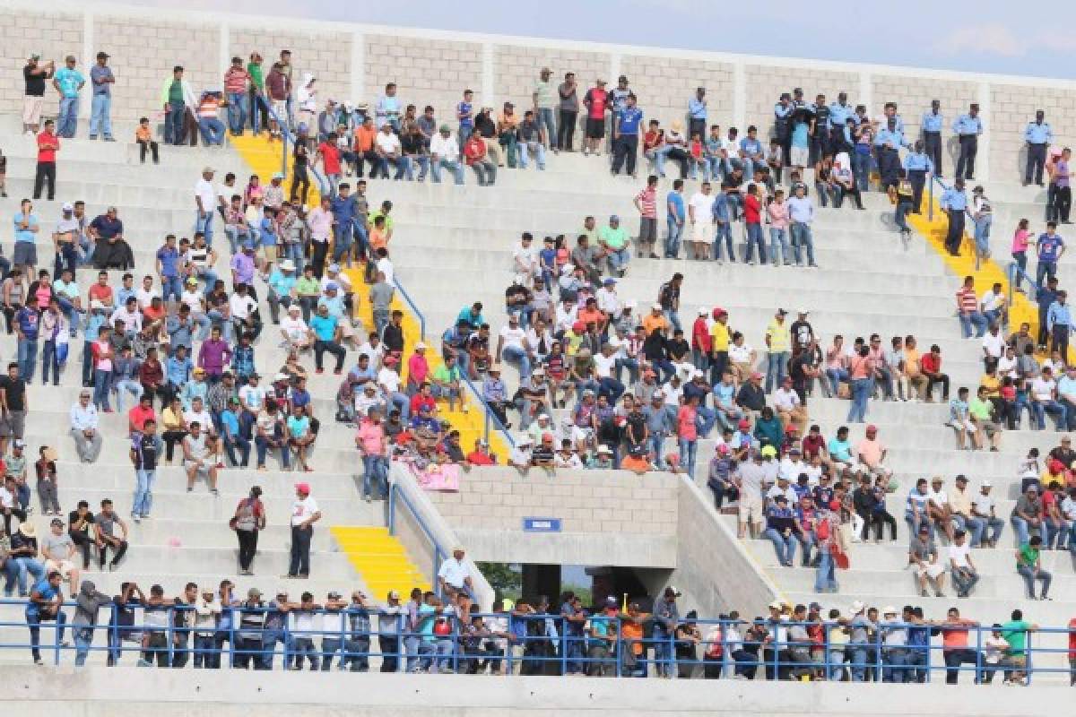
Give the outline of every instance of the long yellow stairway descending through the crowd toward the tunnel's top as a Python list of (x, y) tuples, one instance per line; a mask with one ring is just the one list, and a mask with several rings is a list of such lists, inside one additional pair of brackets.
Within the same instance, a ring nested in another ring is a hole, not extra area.
[[(231, 146), (235, 147), (240, 156), (246, 161), (253, 173), (261, 177), (263, 184), (267, 184), (269, 177), (280, 171), (282, 153), (280, 142), (270, 142), (265, 133), (260, 137), (254, 137), (251, 133), (245, 133), (241, 137), (229, 138), (229, 140), (231, 142)], [(287, 176), (284, 177), (283, 183), (285, 190), (287, 190), (291, 186), (291, 175), (292, 158), (289, 153), (287, 160)], [(376, 190), (378, 184), (376, 182), (371, 183), (369, 187), (371, 190)], [(316, 206), (320, 202), (321, 193), (317, 190), (317, 182), (311, 181), (307, 204), (309, 206)], [(372, 198), (370, 199), (371, 206), (380, 206), (380, 201), (374, 201)], [(402, 209), (405, 212), (407, 211), (407, 207)], [(344, 269), (344, 273), (348, 275), (348, 278), (351, 279), (351, 285), (355, 292), (355, 317), (363, 322), (364, 327), (372, 328), (373, 315), (368, 300), (368, 285), (366, 284), (366, 279), (364, 277), (362, 264), (351, 269)], [(414, 345), (422, 339), (419, 317), (411, 311), (411, 307), (408, 305), (400, 291), (397, 291), (396, 296), (393, 298), (392, 307), (404, 312), (404, 356), (410, 356), (414, 350)], [(434, 332), (439, 332), (441, 328), (448, 327), (428, 328)], [(427, 340), (430, 342), (430, 348), (426, 352), (426, 359), (429, 361), (430, 371), (433, 371), (441, 363), (439, 333), (427, 336)], [(402, 369), (402, 376), (406, 379), (406, 363)], [(467, 392), (465, 392), (465, 396), (467, 396)], [(459, 431), (459, 442), (465, 454), (470, 453), (475, 447), (475, 441), (485, 434), (485, 412), (483, 406), (471, 398), (467, 399), (467, 406), (469, 408), (467, 412), (461, 411), (459, 408), (450, 412), (448, 410), (448, 403), (441, 401), (439, 402), (438, 407), (438, 413), (441, 418), (447, 419), (453, 428)], [(490, 431), (490, 449), (497, 455), (499, 462), (504, 463), (508, 459), (508, 442), (499, 431)]]

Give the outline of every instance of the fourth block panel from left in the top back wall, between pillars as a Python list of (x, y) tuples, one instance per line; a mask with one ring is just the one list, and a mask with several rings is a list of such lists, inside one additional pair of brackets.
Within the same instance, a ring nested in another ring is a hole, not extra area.
[(422, 114), (431, 104), (436, 117), (455, 127), (455, 105), (464, 89), (475, 90), (479, 104), (489, 99), (481, 97), (482, 45), (478, 43), (367, 34), (365, 45), (366, 94), (362, 99), (371, 105), (385, 85), (395, 82), (404, 106), (413, 103)]

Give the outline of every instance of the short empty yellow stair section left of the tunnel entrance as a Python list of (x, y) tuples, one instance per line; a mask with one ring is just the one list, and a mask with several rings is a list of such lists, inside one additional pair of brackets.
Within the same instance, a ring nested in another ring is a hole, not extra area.
[(390, 590), (398, 590), (407, 600), (413, 588), (430, 589), (429, 576), (422, 574), (407, 549), (387, 528), (372, 526), (332, 526), (332, 537), (363, 576), (370, 598), (384, 601)]

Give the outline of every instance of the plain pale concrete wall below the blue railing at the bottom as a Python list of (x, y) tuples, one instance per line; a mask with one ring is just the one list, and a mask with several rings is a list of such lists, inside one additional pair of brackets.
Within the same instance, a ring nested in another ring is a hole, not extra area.
[[(138, 678), (132, 679), (133, 671)], [(5, 698), (23, 717), (561, 717), (646, 715), (877, 715), (957, 717), (1063, 714), (1071, 691), (982, 689), (962, 680), (930, 685), (782, 683), (731, 679), (632, 680), (585, 677), (461, 677), (345, 673), (34, 668), (5, 665)], [(461, 687), (465, 680), (466, 687)], [(624, 689), (626, 684), (632, 689)], [(17, 702), (16, 702), (17, 701)]]

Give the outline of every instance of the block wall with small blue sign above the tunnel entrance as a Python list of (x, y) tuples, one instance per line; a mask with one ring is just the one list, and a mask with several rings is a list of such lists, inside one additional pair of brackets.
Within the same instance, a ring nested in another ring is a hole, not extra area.
[[(473, 469), (459, 492), (429, 499), (475, 560), (672, 568), (677, 478), (626, 471)], [(556, 518), (560, 532), (525, 532), (527, 517)]]

